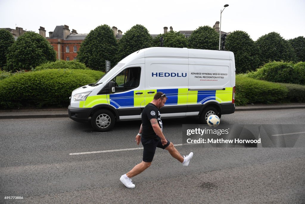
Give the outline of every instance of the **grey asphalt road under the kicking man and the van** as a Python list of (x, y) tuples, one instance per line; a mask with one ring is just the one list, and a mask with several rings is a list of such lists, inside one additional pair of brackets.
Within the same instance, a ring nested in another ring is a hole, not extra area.
[[(127, 189), (119, 178), (141, 162), (142, 149), (123, 149), (141, 147), (140, 123), (99, 133), (69, 118), (1, 120), (0, 203), (305, 202), (305, 148), (176, 146), (182, 155), (194, 152), (188, 167), (158, 149), (152, 166), (133, 178), (136, 188)], [(198, 123), (163, 119), (164, 134), (181, 144), (182, 124)], [(305, 124), (305, 109), (242, 111), (221, 123)]]

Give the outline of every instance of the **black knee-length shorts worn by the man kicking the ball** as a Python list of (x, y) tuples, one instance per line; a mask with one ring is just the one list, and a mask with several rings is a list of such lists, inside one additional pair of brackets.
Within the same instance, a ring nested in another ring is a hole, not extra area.
[(143, 161), (152, 162), (153, 156), (155, 155), (156, 148), (162, 148), (163, 150), (170, 145), (170, 141), (167, 140), (166, 145), (162, 145), (160, 138), (144, 138), (141, 137), (141, 142), (144, 147), (143, 150)]

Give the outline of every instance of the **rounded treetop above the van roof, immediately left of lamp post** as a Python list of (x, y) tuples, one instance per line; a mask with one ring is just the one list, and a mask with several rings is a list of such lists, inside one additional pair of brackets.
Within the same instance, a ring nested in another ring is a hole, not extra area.
[(193, 49), (218, 50), (219, 34), (210, 26), (200, 26), (188, 38), (188, 46)]

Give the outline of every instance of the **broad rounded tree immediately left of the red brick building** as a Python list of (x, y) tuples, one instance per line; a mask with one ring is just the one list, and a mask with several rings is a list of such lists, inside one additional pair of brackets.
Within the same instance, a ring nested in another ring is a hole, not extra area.
[(55, 50), (44, 37), (29, 31), (19, 36), (9, 48), (5, 69), (13, 72), (30, 70), (48, 61), (56, 61)]

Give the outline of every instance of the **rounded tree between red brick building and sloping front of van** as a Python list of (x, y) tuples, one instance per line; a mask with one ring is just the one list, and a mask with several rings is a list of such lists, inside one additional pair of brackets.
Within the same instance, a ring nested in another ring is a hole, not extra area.
[(117, 53), (117, 40), (113, 30), (106, 24), (91, 30), (77, 52), (77, 60), (86, 67), (105, 71), (105, 61), (115, 65)]

